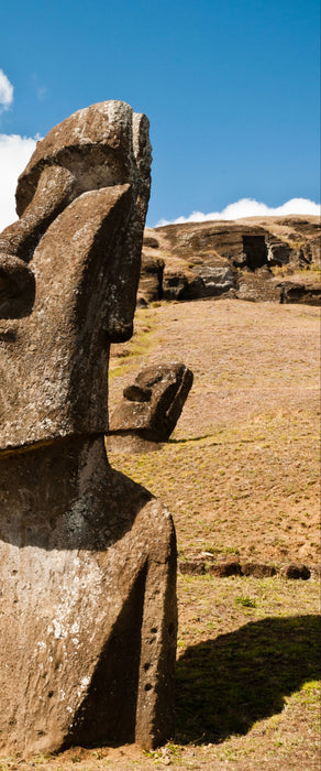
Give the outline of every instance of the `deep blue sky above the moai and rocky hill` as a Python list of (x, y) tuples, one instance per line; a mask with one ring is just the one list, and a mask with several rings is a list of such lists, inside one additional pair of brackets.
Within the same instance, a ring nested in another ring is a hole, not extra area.
[(274, 208), (292, 198), (320, 202), (319, 1), (5, 6), (2, 209), (32, 138), (104, 99), (150, 118), (150, 226), (221, 213), (244, 198)]

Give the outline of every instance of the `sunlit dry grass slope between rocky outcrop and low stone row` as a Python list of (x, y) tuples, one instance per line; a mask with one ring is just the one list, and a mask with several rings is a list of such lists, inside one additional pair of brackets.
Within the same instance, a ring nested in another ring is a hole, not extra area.
[[(142, 327), (150, 328), (148, 349), (132, 357)], [(121, 367), (111, 360), (111, 409), (145, 363), (181, 360), (195, 373), (167, 445), (110, 456), (168, 506), (179, 553), (211, 547), (278, 565), (318, 562), (318, 310), (231, 300), (162, 304), (140, 312), (128, 350)]]

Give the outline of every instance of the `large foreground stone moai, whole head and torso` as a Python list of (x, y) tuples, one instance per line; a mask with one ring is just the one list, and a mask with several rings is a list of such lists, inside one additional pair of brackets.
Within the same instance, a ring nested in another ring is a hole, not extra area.
[(173, 522), (103, 443), (150, 163), (144, 116), (80, 110), (38, 142), (0, 235), (1, 753), (173, 730)]

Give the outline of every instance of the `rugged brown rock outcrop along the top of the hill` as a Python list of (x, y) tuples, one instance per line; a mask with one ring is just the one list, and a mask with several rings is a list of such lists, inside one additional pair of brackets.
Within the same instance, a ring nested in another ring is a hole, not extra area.
[[(321, 283), (302, 268), (320, 265), (318, 217), (251, 217), (146, 229), (139, 304), (230, 296), (320, 304)], [(298, 276), (289, 292), (274, 268)]]

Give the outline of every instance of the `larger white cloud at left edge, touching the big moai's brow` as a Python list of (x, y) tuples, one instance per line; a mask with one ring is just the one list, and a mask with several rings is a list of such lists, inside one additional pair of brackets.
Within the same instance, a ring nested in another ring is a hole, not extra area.
[(35, 150), (38, 137), (0, 134), (0, 232), (16, 219), (14, 193), (19, 174)]

